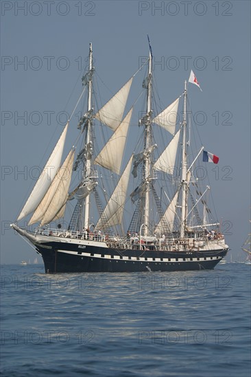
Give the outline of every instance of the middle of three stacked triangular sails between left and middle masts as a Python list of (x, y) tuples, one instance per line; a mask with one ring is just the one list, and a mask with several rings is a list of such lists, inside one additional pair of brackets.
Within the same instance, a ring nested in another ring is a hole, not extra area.
[(95, 164), (101, 165), (101, 167), (105, 167), (114, 173), (120, 173), (123, 151), (125, 148), (125, 141), (128, 134), (131, 116), (132, 108), (128, 114), (125, 115), (125, 118), (120, 123), (119, 127), (117, 127), (117, 130), (115, 130), (110, 140), (95, 158)]

